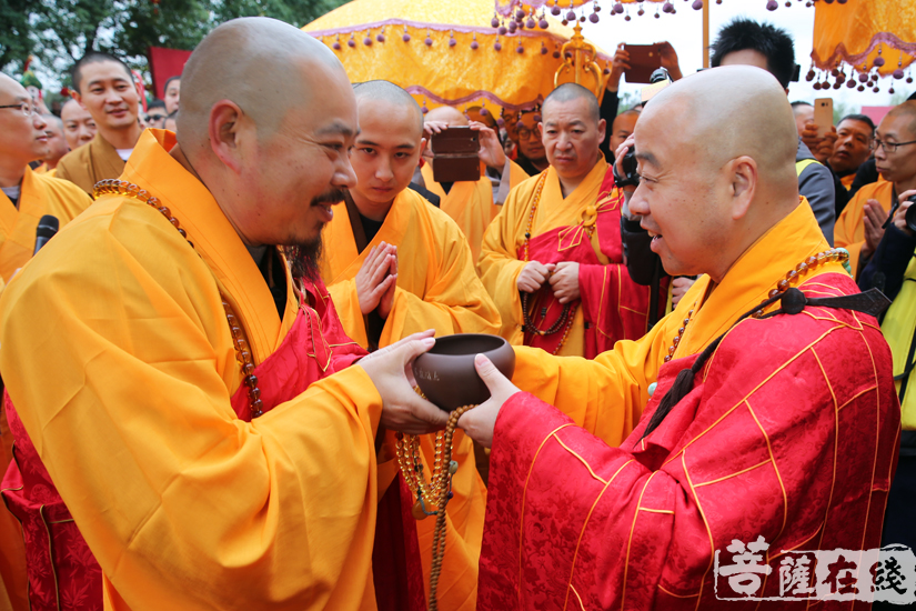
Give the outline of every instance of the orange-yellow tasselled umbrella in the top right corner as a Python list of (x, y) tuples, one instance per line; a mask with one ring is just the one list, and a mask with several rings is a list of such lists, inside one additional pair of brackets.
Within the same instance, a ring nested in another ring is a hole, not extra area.
[[(878, 77), (908, 76), (916, 56), (916, 2), (909, 0), (822, 0), (814, 17), (814, 50), (807, 80), (815, 89), (857, 87), (878, 92)], [(815, 72), (815, 68), (821, 73)], [(858, 72), (858, 74), (856, 74)], [(835, 81), (831, 83), (829, 77)], [(819, 86), (819, 87), (818, 87)], [(893, 82), (888, 90), (894, 93)]]

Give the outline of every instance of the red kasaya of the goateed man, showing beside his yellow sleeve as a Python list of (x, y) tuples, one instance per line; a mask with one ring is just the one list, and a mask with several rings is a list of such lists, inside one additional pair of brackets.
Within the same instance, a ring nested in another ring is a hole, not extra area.
[[(366, 354), (343, 332), (324, 283), (308, 282), (303, 289), (292, 329), (280, 348), (254, 368), (264, 412)], [(41, 463), (8, 392), (3, 401), (16, 445), (0, 495), (23, 527), (31, 611), (101, 611), (99, 563)], [(240, 419), (251, 421), (248, 387), (239, 387), (231, 403)], [(405, 523), (412, 525), (413, 520)], [(419, 555), (419, 550), (415, 553)], [(419, 587), (422, 592), (422, 583)]]

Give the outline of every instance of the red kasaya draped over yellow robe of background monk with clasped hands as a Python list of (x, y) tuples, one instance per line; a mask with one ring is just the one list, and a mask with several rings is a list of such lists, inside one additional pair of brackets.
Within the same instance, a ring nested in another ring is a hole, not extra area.
[[(651, 291), (633, 282), (624, 264), (622, 207), (623, 191), (614, 184), (614, 172), (608, 167), (595, 206), (586, 207), (578, 224), (557, 227), (533, 237), (529, 243), (531, 261), (578, 263), (580, 299), (570, 304), (570, 315), (575, 308), (582, 308), (586, 359), (612, 349), (617, 340), (636, 340), (647, 331)], [(594, 242), (606, 263), (598, 260)], [(524, 247), (519, 247), (517, 254), (524, 260)], [(660, 314), (664, 313), (666, 288), (667, 281), (660, 289)], [(529, 308), (535, 324), (543, 330), (555, 324), (564, 307), (547, 284), (530, 298)], [(525, 345), (554, 352), (563, 334), (563, 330), (545, 335), (526, 331)]]

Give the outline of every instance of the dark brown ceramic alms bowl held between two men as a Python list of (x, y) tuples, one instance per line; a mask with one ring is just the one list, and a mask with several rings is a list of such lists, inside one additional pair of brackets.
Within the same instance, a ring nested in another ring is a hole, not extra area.
[(474, 357), (483, 354), (503, 375), (515, 371), (515, 351), (499, 335), (462, 333), (436, 338), (435, 345), (413, 362), (413, 377), (434, 405), (454, 411), (490, 399), (490, 390), (474, 368)]

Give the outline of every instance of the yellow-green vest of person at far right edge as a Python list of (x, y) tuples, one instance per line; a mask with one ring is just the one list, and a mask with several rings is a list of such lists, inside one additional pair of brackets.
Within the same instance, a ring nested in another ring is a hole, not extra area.
[[(904, 284), (894, 298), (894, 303), (887, 309), (880, 329), (894, 355), (894, 378), (898, 395), (904, 382), (906, 383), (904, 394), (900, 395), (903, 428), (916, 430), (916, 370), (913, 368), (916, 360), (916, 258), (909, 260), (904, 273)], [(907, 369), (910, 369), (909, 375), (897, 380)]]

